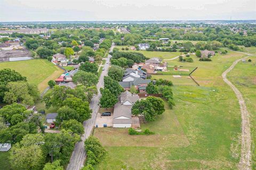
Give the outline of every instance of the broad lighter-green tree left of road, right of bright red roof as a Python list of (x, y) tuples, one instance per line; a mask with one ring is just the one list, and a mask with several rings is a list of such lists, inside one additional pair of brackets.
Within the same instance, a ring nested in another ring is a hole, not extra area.
[(91, 72), (78, 71), (74, 75), (73, 81), (78, 84), (83, 84), (85, 87), (90, 87), (98, 83), (98, 77)]

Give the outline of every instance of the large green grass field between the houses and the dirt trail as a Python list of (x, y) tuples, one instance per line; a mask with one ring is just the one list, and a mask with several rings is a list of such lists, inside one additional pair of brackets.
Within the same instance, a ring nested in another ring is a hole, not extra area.
[(153, 75), (173, 81), (176, 106), (166, 108), (156, 121), (141, 125), (154, 135), (96, 129), (94, 135), (108, 152), (95, 169), (237, 169), (241, 114), (236, 96), (221, 74), (242, 56), (229, 52), (214, 56), (212, 62), (199, 62), (194, 56), (194, 63), (168, 61), (184, 68), (198, 67), (193, 77), (201, 86), (187, 76)]

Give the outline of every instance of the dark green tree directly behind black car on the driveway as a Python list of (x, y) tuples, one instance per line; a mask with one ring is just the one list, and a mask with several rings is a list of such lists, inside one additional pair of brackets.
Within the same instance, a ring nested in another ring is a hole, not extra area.
[(113, 107), (117, 103), (117, 97), (112, 94), (109, 89), (100, 89), (100, 107), (108, 108)]

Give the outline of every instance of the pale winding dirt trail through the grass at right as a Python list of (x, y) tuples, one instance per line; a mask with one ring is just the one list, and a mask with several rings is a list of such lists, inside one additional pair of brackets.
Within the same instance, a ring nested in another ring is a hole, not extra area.
[[(242, 52), (239, 52), (242, 53)], [(228, 86), (233, 89), (239, 102), (241, 117), (242, 117), (242, 139), (241, 139), (241, 158), (239, 161), (238, 169), (251, 170), (251, 129), (250, 129), (250, 113), (247, 111), (244, 98), (241, 92), (227, 79), (227, 73), (234, 69), (235, 65), (249, 57), (251, 54), (246, 54), (246, 57), (236, 60), (225, 72), (222, 73), (223, 80)]]

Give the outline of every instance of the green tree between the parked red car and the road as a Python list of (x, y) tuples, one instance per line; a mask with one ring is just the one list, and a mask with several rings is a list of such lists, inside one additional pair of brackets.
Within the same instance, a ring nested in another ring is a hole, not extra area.
[(63, 121), (61, 124), (61, 128), (66, 130), (71, 130), (73, 133), (76, 133), (79, 135), (82, 135), (84, 133), (83, 124), (74, 119)]

